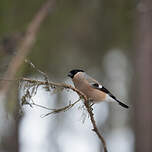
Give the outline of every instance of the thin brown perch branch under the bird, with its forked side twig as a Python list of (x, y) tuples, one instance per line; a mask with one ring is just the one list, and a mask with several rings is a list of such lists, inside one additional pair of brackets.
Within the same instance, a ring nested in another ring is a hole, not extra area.
[[(44, 86), (47, 86), (47, 88), (51, 87), (51, 88), (55, 89), (56, 87), (59, 87), (59, 88), (62, 88), (62, 89), (73, 90), (74, 92), (76, 92), (80, 96), (80, 99), (84, 99), (84, 105), (85, 105), (85, 107), (86, 107), (86, 109), (87, 109), (87, 111), (89, 113), (90, 120), (91, 120), (91, 123), (92, 123), (92, 126), (93, 126), (92, 131), (94, 131), (96, 133), (96, 135), (100, 139), (101, 143), (103, 144), (104, 152), (108, 152), (107, 146), (106, 146), (106, 142), (104, 140), (104, 137), (101, 135), (101, 133), (99, 132), (99, 130), (97, 128), (97, 125), (96, 125), (96, 122), (95, 122), (95, 119), (94, 119), (94, 114), (92, 112), (93, 110), (92, 110), (92, 108), (91, 108), (91, 106), (89, 104), (89, 100), (86, 97), (86, 95), (83, 94), (78, 89), (74, 88), (71, 85), (65, 84), (65, 83), (55, 83), (55, 82), (49, 82), (49, 81), (40, 81), (40, 80), (33, 80), (33, 79), (29, 79), (29, 78), (21, 78), (21, 79), (18, 79), (18, 80), (6, 80), (6, 79), (3, 80), (3, 79), (0, 79), (0, 81), (9, 81), (9, 82), (11, 82), (11, 81), (19, 81), (19, 82), (23, 81), (23, 82), (28, 82), (28, 83), (30, 83), (32, 85), (37, 85), (37, 86), (40, 86), (40, 85), (43, 86), (44, 85)], [(60, 109), (49, 109), (49, 108), (44, 107), (42, 105), (35, 104), (34, 102), (32, 102), (30, 104), (30, 106), (35, 105), (35, 106), (38, 106), (38, 107), (41, 107), (41, 108), (45, 108), (47, 110), (53, 110), (52, 112), (50, 112), (50, 113), (42, 116), (42, 117), (45, 117), (45, 116), (48, 116), (48, 115), (53, 114), (53, 113), (58, 113), (58, 112), (61, 112), (61, 111), (66, 111), (66, 110), (70, 109), (71, 107), (73, 107), (76, 103), (78, 103), (79, 100), (77, 100), (73, 104), (70, 103), (69, 105), (67, 105), (67, 106), (65, 106), (63, 108), (60, 108)]]

